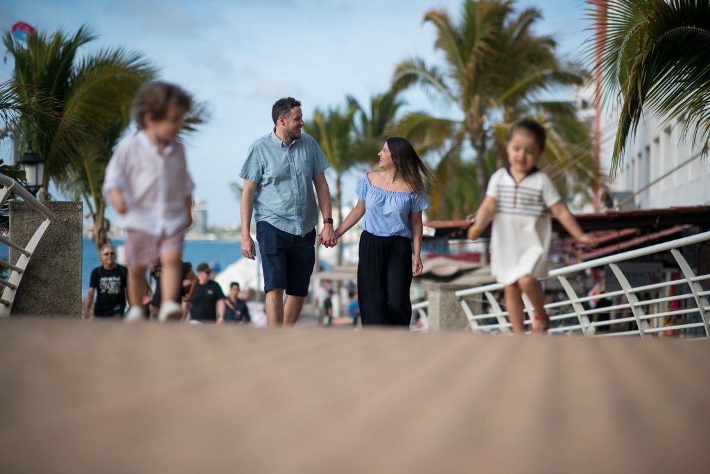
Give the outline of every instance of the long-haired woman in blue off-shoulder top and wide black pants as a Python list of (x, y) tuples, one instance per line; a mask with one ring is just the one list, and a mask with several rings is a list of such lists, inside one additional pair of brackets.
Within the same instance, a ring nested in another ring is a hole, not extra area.
[(359, 201), (335, 234), (340, 238), (364, 217), (357, 268), (362, 324), (409, 325), (412, 276), (422, 273), (422, 210), (429, 207), (423, 177), (435, 179), (403, 138), (388, 138), (378, 156), (382, 171), (362, 178)]

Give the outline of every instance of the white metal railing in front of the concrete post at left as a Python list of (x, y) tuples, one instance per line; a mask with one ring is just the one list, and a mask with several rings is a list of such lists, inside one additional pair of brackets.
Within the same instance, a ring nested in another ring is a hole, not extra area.
[(13, 178), (0, 174), (0, 207), (4, 205), (10, 193), (15, 193), (23, 200), (30, 203), (35, 210), (43, 214), (46, 218), (40, 223), (33, 236), (24, 246), (18, 244), (18, 242), (12, 242), (11, 238), (0, 236), (1, 243), (6, 244), (8, 247), (20, 253), (20, 257), (15, 264), (0, 259), (0, 267), (4, 267), (9, 272), (7, 279), (0, 278), (0, 286), (2, 287), (2, 296), (0, 296), (0, 318), (10, 316), (12, 303), (15, 301), (15, 295), (17, 294), (17, 289), (27, 268), (27, 264), (30, 262), (30, 258), (35, 252), (37, 244), (40, 242), (47, 227), (49, 227), (50, 222), (56, 219), (54, 213), (50, 211), (47, 206), (40, 203), (28, 190), (19, 185)]

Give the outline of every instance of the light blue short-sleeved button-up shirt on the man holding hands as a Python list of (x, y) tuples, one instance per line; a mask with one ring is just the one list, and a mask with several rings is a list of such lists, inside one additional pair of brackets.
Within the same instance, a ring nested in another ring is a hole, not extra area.
[(254, 220), (303, 237), (318, 223), (313, 178), (330, 167), (315, 139), (290, 145), (272, 131), (249, 146), (239, 176), (257, 184)]

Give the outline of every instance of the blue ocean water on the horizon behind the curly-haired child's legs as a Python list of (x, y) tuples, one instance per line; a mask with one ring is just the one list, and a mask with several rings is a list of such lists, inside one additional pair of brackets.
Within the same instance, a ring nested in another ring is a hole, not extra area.
[[(111, 243), (119, 246), (123, 239), (112, 239)], [(194, 268), (198, 264), (217, 262), (224, 269), (227, 265), (241, 259), (241, 242), (227, 240), (186, 240), (183, 259)], [(91, 272), (101, 264), (99, 253), (92, 239), (84, 237), (82, 247), (82, 297), (89, 291)]]

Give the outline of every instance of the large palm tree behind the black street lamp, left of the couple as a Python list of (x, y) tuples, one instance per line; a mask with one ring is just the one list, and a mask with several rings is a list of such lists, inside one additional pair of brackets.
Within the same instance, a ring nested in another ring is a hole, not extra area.
[(15, 60), (12, 85), (16, 101), (33, 107), (48, 97), (43, 117), (29, 123), (22, 114), (21, 141), (45, 160), (44, 185), (52, 180), (60, 189), (81, 197), (94, 220), (97, 247), (108, 242), (106, 203), (101, 193), (104, 171), (116, 142), (130, 123), (133, 97), (155, 77), (155, 69), (140, 54), (111, 48), (77, 54), (96, 38), (87, 26), (73, 36), (57, 31), (35, 33), (24, 45), (11, 33), (4, 45)]

